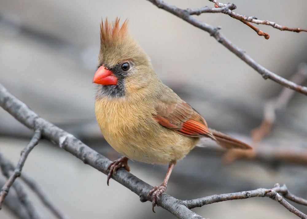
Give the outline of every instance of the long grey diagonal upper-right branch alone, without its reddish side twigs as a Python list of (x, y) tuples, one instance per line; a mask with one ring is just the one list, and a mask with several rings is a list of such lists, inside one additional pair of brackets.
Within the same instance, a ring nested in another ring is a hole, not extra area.
[(271, 79), (282, 86), (285, 86), (287, 88), (290, 88), (292, 90), (295, 90), (299, 93), (307, 95), (307, 87), (298, 85), (296, 83), (293, 83), (292, 81), (289, 81), (272, 71), (269, 71), (265, 67), (258, 64), (255, 60), (253, 60), (250, 56), (248, 56), (242, 49), (235, 46), (230, 40), (228, 40), (226, 37), (224, 37), (219, 32), (219, 27), (214, 27), (212, 25), (206, 24), (204, 22), (201, 22), (194, 17), (192, 17), (188, 10), (183, 10), (180, 8), (177, 8), (173, 5), (170, 5), (167, 2), (161, 1), (161, 0), (148, 0), (154, 5), (156, 5), (158, 8), (161, 8), (163, 10), (166, 10), (177, 17), (180, 17), (181, 19), (187, 21), (188, 23), (192, 24), (193, 26), (196, 26), (197, 28), (200, 28), (210, 34), (210, 36), (213, 36), (219, 43), (221, 43), (223, 46), (225, 46), (227, 49), (229, 49), (231, 52), (233, 52), (236, 56), (238, 56), (241, 60), (243, 60), (245, 63), (247, 63), (249, 66), (254, 68), (264, 79)]

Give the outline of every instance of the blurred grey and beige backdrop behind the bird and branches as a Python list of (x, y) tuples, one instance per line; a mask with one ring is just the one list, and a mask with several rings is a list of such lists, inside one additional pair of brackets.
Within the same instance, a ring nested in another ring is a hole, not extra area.
[[(181, 8), (213, 7), (200, 0), (167, 2)], [(237, 13), (307, 28), (306, 1), (234, 3)], [(282, 86), (263, 80), (208, 33), (145, 0), (0, 1), (0, 83), (41, 117), (107, 158), (119, 158), (96, 124), (95, 86), (91, 83), (100, 45), (99, 23), (101, 18), (117, 16), (122, 21), (129, 18), (130, 31), (151, 57), (157, 75), (200, 112), (209, 127), (251, 143), (251, 131), (261, 124), (266, 102), (278, 96)], [(220, 26), (224, 36), (259, 64), (287, 79), (299, 63), (306, 62), (307, 33), (256, 26), (270, 34), (265, 40), (225, 14), (203, 14), (197, 19)], [(307, 198), (307, 163), (273, 156), (280, 150), (289, 155), (299, 150), (304, 158), (306, 109), (306, 96), (294, 94), (286, 108), (278, 111), (270, 135), (255, 147), (262, 156), (227, 163), (226, 152), (218, 147), (195, 148), (177, 162), (166, 193), (185, 200), (285, 183), (291, 192)], [(0, 108), (0, 150), (6, 158), (16, 164), (31, 136), (31, 131)], [(163, 181), (167, 171), (167, 165), (133, 161), (129, 165), (132, 174), (153, 186)], [(107, 186), (106, 175), (44, 140), (30, 153), (23, 173), (69, 218), (174, 218), (159, 207), (152, 213), (150, 202), (140, 202), (112, 179)], [(29, 198), (42, 218), (54, 218), (34, 194)], [(306, 207), (295, 206), (307, 213)], [(269, 198), (220, 202), (195, 211), (212, 219), (297, 218)], [(16, 215), (4, 206), (0, 218)]]

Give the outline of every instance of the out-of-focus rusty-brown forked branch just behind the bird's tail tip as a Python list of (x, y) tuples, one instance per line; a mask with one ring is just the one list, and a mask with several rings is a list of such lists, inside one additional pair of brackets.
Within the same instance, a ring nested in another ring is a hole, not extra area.
[[(305, 81), (307, 81), (306, 63), (301, 63), (298, 66), (298, 70), (291, 77), (291, 81), (293, 81), (294, 83), (304, 83)], [(295, 94), (294, 90), (289, 90), (286, 87), (284, 87), (277, 97), (268, 100), (264, 106), (263, 110), (264, 117), (261, 125), (259, 125), (259, 127), (255, 128), (251, 132), (251, 138), (252, 138), (251, 145), (254, 148), (254, 150), (253, 151), (231, 150), (225, 154), (224, 160), (229, 163), (233, 162), (235, 159), (238, 158), (251, 159), (255, 158), (256, 156), (259, 156), (259, 154), (261, 154), (261, 149), (262, 149), (259, 147), (259, 143), (265, 136), (270, 134), (272, 126), (276, 121), (276, 112), (285, 109), (294, 94)], [(289, 148), (291, 148), (291, 151), (289, 151)], [(275, 154), (270, 154), (270, 158), (272, 160), (275, 159), (275, 160), (282, 160), (291, 163), (307, 165), (307, 154), (305, 152), (305, 149), (303, 150), (297, 150), (297, 149), (298, 147), (295, 146), (288, 147), (286, 150), (283, 150), (282, 147), (279, 147), (278, 149), (273, 150), (275, 151)], [(263, 152), (262, 154), (264, 155), (269, 154), (267, 148), (265, 152)]]

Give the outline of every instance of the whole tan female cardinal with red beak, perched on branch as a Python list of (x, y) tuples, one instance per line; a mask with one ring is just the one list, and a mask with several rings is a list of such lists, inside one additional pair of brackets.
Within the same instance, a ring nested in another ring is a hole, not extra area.
[(119, 18), (100, 25), (95, 114), (107, 142), (124, 155), (108, 167), (109, 179), (119, 167), (130, 170), (127, 160), (169, 163), (163, 183), (148, 193), (152, 206), (166, 189), (177, 160), (185, 157), (201, 137), (225, 148), (250, 149), (243, 142), (208, 129), (199, 113), (165, 86), (153, 70), (150, 58)]

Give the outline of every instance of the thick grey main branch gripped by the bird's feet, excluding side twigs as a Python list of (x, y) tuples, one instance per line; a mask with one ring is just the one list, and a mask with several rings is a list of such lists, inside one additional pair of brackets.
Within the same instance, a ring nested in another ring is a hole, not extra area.
[[(65, 132), (59, 127), (39, 117), (25, 103), (21, 102), (15, 96), (10, 94), (1, 84), (0, 106), (29, 129), (41, 129), (43, 137), (76, 156), (84, 163), (94, 167), (98, 171), (104, 174), (107, 173), (107, 167), (111, 163), (111, 160), (95, 152), (93, 149), (83, 144), (80, 140), (76, 139), (72, 134)], [(136, 176), (132, 175), (123, 168), (119, 168), (116, 171), (116, 175), (113, 175), (112, 178), (137, 194), (140, 197), (141, 202), (148, 201), (147, 194), (153, 188), (153, 186), (143, 182), (141, 179), (138, 179)], [(150, 197), (149, 201), (152, 201), (152, 197)], [(157, 200), (157, 204), (178, 218), (203, 218), (183, 205), (182, 201), (166, 193), (162, 193), (160, 195), (160, 199)]]

